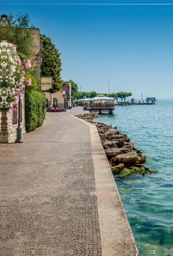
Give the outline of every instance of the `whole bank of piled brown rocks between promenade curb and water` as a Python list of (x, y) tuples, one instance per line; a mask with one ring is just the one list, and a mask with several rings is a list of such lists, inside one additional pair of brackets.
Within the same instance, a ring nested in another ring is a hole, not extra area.
[(111, 125), (93, 120), (93, 118), (98, 118), (99, 114), (90, 112), (75, 116), (97, 127), (113, 174), (128, 176), (133, 173), (142, 175), (156, 173), (156, 171), (145, 167), (146, 156), (141, 155), (142, 152), (134, 147), (133, 142), (127, 138), (125, 133), (117, 131), (117, 127), (113, 128)]

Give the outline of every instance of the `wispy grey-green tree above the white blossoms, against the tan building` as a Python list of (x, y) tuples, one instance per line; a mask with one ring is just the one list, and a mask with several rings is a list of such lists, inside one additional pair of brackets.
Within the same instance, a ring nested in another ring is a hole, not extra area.
[(6, 40), (17, 46), (18, 53), (23, 53), (29, 59), (33, 55), (34, 25), (29, 22), (28, 13), (15, 16), (13, 13), (7, 14), (5, 25), (0, 24), (0, 39)]

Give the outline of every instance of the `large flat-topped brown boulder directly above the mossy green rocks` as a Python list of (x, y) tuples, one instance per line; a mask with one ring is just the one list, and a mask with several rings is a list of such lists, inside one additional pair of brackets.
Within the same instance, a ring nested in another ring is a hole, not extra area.
[(136, 152), (133, 150), (125, 154), (119, 154), (111, 158), (112, 163), (135, 163), (138, 160)]

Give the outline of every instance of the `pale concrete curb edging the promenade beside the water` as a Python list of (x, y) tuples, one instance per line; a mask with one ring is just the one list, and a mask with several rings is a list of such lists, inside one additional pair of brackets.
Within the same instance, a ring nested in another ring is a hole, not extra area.
[(102, 256), (137, 256), (138, 247), (97, 128), (74, 115), (70, 116), (90, 126)]

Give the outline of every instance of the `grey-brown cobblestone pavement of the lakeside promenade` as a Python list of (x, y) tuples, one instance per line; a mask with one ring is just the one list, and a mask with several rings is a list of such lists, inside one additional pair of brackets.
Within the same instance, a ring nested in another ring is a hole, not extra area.
[(0, 255), (101, 255), (90, 127), (47, 113), (22, 144), (0, 144)]

